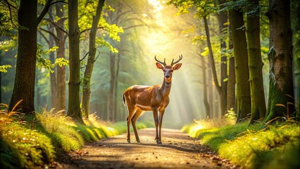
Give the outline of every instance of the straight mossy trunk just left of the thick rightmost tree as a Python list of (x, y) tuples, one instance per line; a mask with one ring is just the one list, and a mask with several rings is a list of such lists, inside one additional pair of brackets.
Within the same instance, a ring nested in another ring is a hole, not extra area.
[[(248, 0), (249, 4), (258, 6), (258, 0)], [(263, 61), (261, 60), (261, 38), (259, 15), (247, 15), (247, 40), (249, 56), (249, 83), (251, 92), (251, 120), (265, 117), (265, 92), (263, 90)]]

